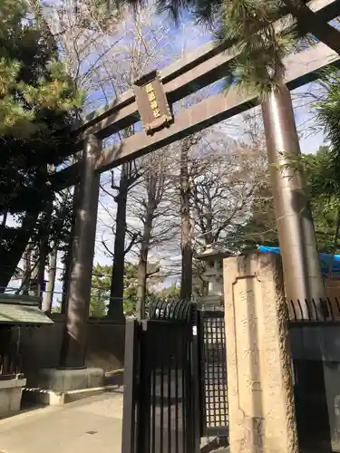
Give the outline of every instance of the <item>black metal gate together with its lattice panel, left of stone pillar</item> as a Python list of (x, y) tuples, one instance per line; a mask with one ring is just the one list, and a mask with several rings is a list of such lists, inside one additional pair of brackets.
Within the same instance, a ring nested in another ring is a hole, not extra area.
[(228, 436), (224, 313), (155, 301), (126, 326), (122, 453), (195, 453)]

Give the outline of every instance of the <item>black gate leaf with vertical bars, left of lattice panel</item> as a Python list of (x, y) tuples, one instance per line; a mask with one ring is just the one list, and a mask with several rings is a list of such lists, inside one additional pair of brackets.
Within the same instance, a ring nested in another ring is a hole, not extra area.
[(127, 323), (122, 453), (199, 451), (199, 361), (195, 307), (153, 304), (150, 320)]

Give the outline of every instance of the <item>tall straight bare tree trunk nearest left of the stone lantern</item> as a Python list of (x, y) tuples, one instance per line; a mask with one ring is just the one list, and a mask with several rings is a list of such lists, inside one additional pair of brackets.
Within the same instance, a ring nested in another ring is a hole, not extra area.
[(180, 151), (180, 249), (181, 284), (180, 299), (189, 301), (192, 295), (192, 235), (189, 207), (189, 149), (182, 146)]

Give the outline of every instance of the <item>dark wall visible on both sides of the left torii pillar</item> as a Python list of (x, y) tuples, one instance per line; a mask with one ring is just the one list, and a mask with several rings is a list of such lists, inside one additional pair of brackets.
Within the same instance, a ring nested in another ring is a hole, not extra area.
[[(21, 328), (22, 372), (27, 386), (34, 387), (36, 371), (55, 368), (63, 341), (63, 315), (52, 316), (54, 324)], [(88, 323), (86, 366), (104, 371), (121, 369), (124, 363), (125, 325), (90, 319)]]

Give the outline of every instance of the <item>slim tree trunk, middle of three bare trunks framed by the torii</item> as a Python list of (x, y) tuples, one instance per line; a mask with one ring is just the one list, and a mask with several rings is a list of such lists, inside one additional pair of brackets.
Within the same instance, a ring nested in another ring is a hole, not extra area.
[(151, 239), (153, 208), (147, 207), (147, 216), (144, 223), (143, 237), (141, 241), (140, 260), (138, 263), (138, 285), (137, 285), (137, 317), (139, 320), (145, 318), (146, 284), (148, 278), (148, 255)]

